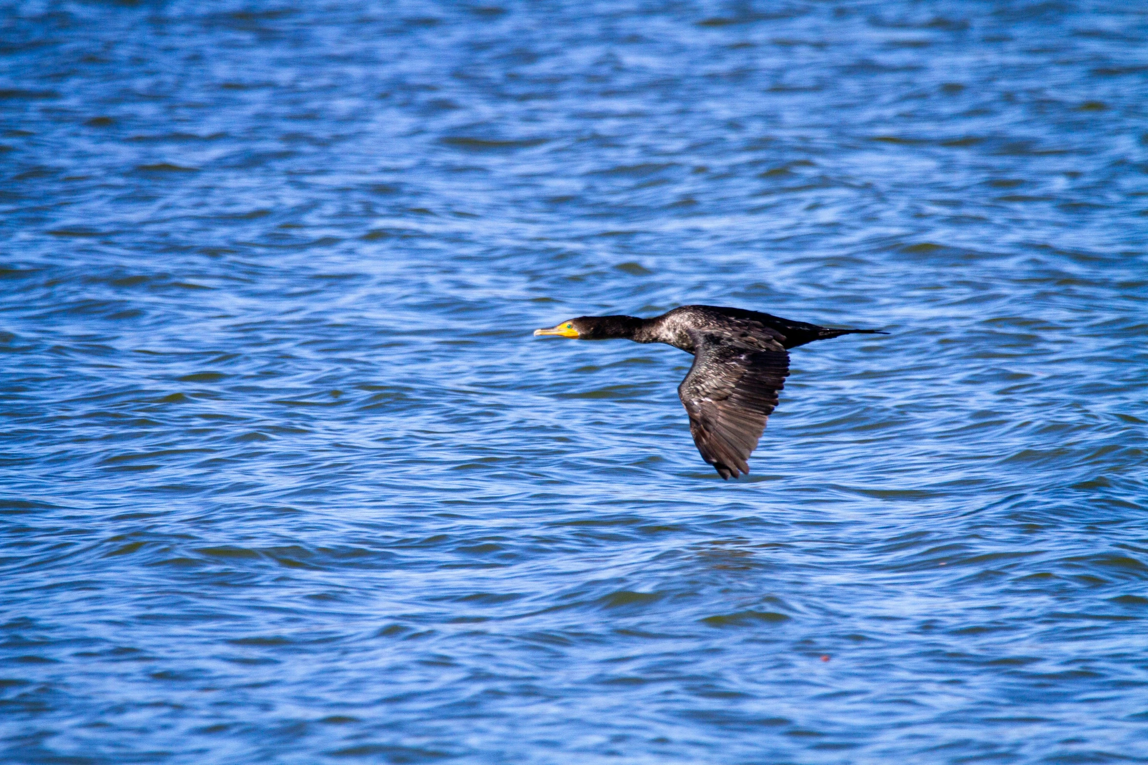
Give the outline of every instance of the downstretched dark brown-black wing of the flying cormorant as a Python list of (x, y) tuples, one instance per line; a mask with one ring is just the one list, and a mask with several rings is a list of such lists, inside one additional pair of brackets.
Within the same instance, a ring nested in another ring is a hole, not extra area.
[(777, 391), (789, 376), (789, 353), (771, 337), (690, 335), (693, 366), (677, 395), (701, 458), (722, 478), (737, 478), (750, 471), (746, 460), (777, 406)]

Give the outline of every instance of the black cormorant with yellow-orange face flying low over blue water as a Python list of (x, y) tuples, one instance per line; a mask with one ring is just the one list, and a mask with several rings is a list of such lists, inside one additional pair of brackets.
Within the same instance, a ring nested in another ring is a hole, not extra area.
[(690, 432), (701, 459), (722, 478), (750, 471), (766, 419), (789, 376), (789, 349), (841, 335), (885, 335), (876, 329), (831, 329), (768, 313), (683, 305), (653, 319), (579, 317), (535, 335), (577, 339), (631, 339), (666, 343), (693, 354), (693, 366), (677, 387), (690, 415)]

